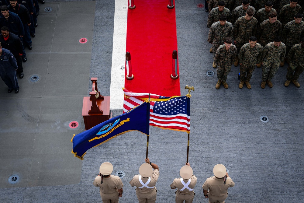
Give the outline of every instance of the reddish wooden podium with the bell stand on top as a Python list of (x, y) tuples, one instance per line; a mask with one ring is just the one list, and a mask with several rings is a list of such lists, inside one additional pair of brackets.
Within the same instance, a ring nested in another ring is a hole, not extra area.
[(97, 88), (97, 78), (91, 78), (92, 92), (83, 97), (82, 117), (85, 130), (112, 118), (110, 110), (110, 96), (102, 96)]

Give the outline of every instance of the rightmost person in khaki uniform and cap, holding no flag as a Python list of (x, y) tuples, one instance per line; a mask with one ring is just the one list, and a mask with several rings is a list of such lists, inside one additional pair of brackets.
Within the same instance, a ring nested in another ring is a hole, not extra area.
[(207, 178), (203, 184), (204, 196), (209, 198), (209, 203), (224, 203), (228, 196), (228, 188), (233, 187), (234, 182), (228, 176), (223, 164), (216, 164), (213, 168), (213, 174), (215, 176)]

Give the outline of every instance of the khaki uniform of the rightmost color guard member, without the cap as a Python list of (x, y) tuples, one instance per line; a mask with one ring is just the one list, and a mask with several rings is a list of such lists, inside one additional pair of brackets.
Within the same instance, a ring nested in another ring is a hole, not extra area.
[(202, 188), (208, 190), (209, 203), (224, 203), (228, 197), (228, 188), (233, 187), (234, 182), (230, 177), (227, 177), (226, 184), (224, 178), (218, 179), (215, 176), (207, 178)]

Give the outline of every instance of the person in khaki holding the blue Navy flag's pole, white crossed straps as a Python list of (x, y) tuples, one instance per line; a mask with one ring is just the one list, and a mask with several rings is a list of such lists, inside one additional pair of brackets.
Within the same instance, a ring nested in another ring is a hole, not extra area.
[[(154, 169), (154, 170), (153, 170)], [(135, 175), (129, 182), (136, 186), (136, 196), (139, 203), (155, 203), (157, 189), (155, 184), (159, 177), (158, 166), (151, 163), (149, 158), (139, 168), (139, 174)]]

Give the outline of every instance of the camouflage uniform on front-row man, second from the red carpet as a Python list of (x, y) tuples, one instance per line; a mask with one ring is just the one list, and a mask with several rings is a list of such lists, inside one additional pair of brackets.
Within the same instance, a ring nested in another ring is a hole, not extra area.
[[(255, 69), (255, 65), (260, 63), (263, 47), (257, 43), (255, 47), (250, 48), (250, 44), (244, 44), (239, 53), (240, 65), (240, 81), (249, 81), (252, 76), (252, 72)], [(246, 76), (247, 72), (247, 77)]]

